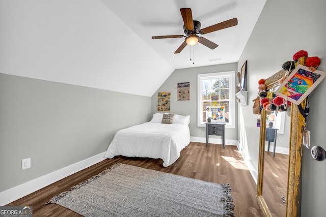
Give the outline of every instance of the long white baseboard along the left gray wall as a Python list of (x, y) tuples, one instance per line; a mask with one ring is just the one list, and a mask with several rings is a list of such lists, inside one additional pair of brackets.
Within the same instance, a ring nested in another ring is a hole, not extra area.
[(96, 156), (77, 162), (55, 172), (51, 172), (39, 178), (20, 184), (14, 188), (0, 192), (0, 206), (4, 206), (19, 198), (29, 195), (37, 190), (46, 187), (60, 179), (63, 179), (73, 173), (90, 167), (104, 160), (105, 152), (99, 153)]

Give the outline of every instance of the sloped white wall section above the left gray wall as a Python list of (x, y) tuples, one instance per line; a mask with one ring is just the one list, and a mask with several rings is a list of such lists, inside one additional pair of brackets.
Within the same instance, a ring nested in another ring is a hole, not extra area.
[(100, 0), (1, 0), (0, 32), (0, 73), (151, 97), (173, 72)]

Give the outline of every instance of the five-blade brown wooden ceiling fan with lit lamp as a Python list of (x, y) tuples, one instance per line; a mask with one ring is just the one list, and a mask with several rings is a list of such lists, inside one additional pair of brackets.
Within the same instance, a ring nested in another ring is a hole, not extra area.
[(190, 8), (180, 8), (181, 16), (184, 22), (183, 29), (184, 35), (173, 35), (173, 36), (153, 36), (152, 39), (169, 39), (169, 38), (183, 38), (186, 37), (184, 42), (180, 45), (180, 47), (174, 53), (180, 53), (186, 45), (195, 45), (197, 42), (205, 45), (210, 49), (215, 49), (219, 45), (215, 44), (204, 37), (197, 36), (197, 34), (207, 34), (211, 32), (215, 32), (217, 30), (228, 28), (231, 26), (235, 26), (238, 24), (237, 18), (233, 18), (230, 20), (226, 20), (221, 23), (217, 23), (206, 28), (201, 27), (201, 23), (197, 20), (193, 20), (192, 9)]

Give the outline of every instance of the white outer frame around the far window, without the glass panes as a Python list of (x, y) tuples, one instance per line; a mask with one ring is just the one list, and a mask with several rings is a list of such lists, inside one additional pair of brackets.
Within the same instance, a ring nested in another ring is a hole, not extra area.
[(215, 72), (207, 74), (198, 74), (197, 75), (197, 126), (205, 127), (205, 122), (202, 120), (202, 101), (203, 101), (203, 80), (205, 79), (214, 79), (219, 77), (230, 76), (229, 82), (229, 122), (226, 123), (225, 128), (235, 128), (235, 71), (229, 72)]

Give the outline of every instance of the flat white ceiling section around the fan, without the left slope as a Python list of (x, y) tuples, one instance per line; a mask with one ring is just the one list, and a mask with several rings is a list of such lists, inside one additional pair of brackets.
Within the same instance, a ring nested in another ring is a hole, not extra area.
[[(266, 0), (101, 1), (174, 69), (236, 63), (266, 2)], [(211, 50), (200, 43), (196, 44), (193, 64), (190, 60), (190, 46), (186, 46), (181, 53), (174, 54), (185, 38), (151, 39), (152, 36), (185, 35), (180, 8), (191, 8), (193, 19), (201, 22), (201, 28), (234, 17), (238, 19), (238, 25), (202, 35), (219, 47)]]

